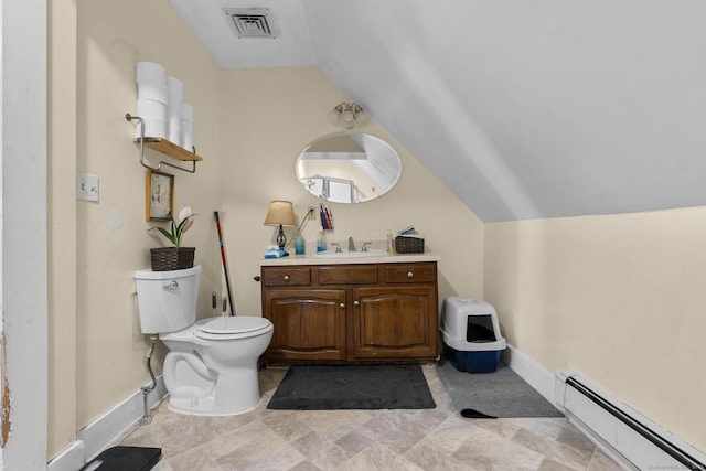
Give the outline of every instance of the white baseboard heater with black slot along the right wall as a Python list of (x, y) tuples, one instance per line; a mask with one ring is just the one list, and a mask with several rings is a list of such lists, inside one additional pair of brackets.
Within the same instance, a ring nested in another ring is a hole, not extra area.
[(605, 451), (638, 470), (706, 470), (706, 456), (569, 370), (556, 373), (558, 408)]

